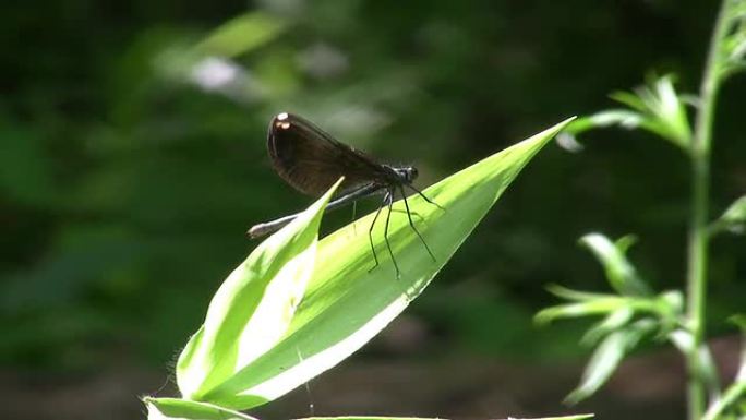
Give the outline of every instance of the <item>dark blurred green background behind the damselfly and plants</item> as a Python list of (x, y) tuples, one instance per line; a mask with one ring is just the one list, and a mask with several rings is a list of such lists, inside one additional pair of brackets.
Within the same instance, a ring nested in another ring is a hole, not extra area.
[[(265, 152), (293, 111), (346, 143), (449, 175), (607, 94), (674, 72), (696, 93), (717, 1), (91, 0), (0, 5), (0, 418), (144, 418), (254, 223), (303, 208)], [(746, 191), (746, 77), (717, 116), (712, 209)], [(684, 374), (650, 346), (567, 408), (587, 323), (538, 328), (549, 283), (605, 291), (577, 239), (639, 236), (682, 288), (688, 165), (646, 133), (548, 146), (402, 317), (256, 413), (461, 419), (595, 411), (682, 418)], [(346, 223), (341, 212), (325, 229)], [(712, 247), (708, 333), (727, 379), (743, 238)], [(311, 407), (313, 406), (313, 407)], [(3, 413), (3, 411), (5, 411)]]

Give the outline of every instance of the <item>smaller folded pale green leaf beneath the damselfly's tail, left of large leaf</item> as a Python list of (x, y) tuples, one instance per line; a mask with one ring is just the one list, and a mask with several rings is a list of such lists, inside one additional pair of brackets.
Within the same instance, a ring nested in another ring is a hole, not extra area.
[(177, 363), (186, 399), (209, 401), (204, 394), (284, 337), (313, 273), (324, 207), (338, 185), (262, 242), (222, 283)]

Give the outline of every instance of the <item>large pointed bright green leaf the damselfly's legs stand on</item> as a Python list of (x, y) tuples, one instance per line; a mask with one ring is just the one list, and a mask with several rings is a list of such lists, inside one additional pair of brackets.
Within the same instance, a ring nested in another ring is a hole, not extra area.
[(435, 261), (409, 226), (404, 202), (395, 203), (388, 238), (400, 278), (386, 250), (384, 220), (372, 232), (381, 260), (372, 269), (368, 230), (373, 214), (324, 238), (305, 297), (279, 341), (200, 398), (233, 409), (255, 407), (358, 350), (422, 292), (531, 157), (567, 122), (428, 188), (424, 194), (445, 211), (417, 195), (407, 199)]

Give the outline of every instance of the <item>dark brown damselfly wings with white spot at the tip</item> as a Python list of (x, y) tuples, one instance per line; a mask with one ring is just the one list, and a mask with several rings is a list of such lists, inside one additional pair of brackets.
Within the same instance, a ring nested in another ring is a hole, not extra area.
[(311, 122), (290, 113), (273, 118), (267, 149), (277, 173), (298, 191), (318, 196), (340, 177), (339, 192), (385, 183), (385, 170), (373, 158), (339, 143)]

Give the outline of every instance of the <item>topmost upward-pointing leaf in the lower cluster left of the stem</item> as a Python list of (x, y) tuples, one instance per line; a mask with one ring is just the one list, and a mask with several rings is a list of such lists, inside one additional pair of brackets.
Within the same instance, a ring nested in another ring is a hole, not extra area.
[(601, 233), (589, 233), (580, 238), (580, 243), (591, 250), (603, 265), (609, 284), (618, 293), (624, 296), (651, 295), (650, 288), (625, 255), (631, 243), (628, 237), (624, 237), (614, 243)]

